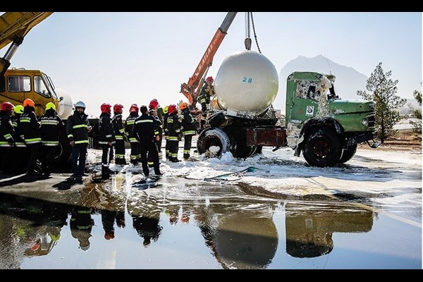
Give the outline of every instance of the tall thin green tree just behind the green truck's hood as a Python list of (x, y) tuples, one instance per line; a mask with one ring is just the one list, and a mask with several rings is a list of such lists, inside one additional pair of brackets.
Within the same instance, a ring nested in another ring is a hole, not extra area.
[(396, 94), (398, 80), (392, 80), (391, 74), (392, 71), (384, 73), (382, 63), (379, 63), (367, 80), (366, 89), (369, 92), (357, 91), (357, 95), (362, 96), (364, 100), (374, 101), (375, 125), (382, 143), (386, 137), (396, 132), (393, 125), (400, 121), (398, 109), (407, 102), (407, 99)]

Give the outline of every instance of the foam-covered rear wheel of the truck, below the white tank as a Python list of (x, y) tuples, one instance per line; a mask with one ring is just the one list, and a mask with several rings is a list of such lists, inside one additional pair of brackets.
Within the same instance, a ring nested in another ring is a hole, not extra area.
[(229, 151), (231, 141), (221, 128), (206, 128), (197, 139), (198, 154), (209, 154), (210, 157), (221, 157)]

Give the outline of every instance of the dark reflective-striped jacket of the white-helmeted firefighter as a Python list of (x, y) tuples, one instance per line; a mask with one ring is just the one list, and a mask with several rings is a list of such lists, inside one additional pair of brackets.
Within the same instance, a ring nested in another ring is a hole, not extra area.
[(75, 144), (88, 144), (88, 131), (87, 127), (90, 121), (87, 120), (87, 114), (79, 114), (74, 111), (72, 116), (68, 117), (66, 121), (66, 134), (69, 141), (75, 141)]

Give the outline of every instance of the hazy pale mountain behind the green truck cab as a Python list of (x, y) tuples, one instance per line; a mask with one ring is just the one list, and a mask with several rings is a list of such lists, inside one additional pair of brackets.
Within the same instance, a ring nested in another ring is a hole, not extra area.
[(357, 90), (366, 90), (367, 76), (355, 71), (354, 68), (335, 63), (323, 55), (314, 58), (298, 56), (289, 61), (279, 73), (279, 90), (274, 109), (281, 109), (282, 113), (285, 113), (286, 78), (294, 71), (315, 71), (335, 75), (335, 92), (341, 99), (361, 100), (362, 97), (357, 95)]

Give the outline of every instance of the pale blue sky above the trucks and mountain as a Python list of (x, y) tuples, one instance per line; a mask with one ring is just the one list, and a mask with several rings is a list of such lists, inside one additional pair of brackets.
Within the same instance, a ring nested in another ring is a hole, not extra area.
[[(126, 110), (154, 98), (161, 106), (186, 102), (180, 85), (194, 73), (225, 16), (56, 12), (27, 34), (11, 66), (44, 71), (74, 103), (84, 101), (94, 116), (104, 102), (121, 103)], [(401, 97), (412, 98), (414, 90), (421, 90), (420, 12), (254, 12), (253, 17), (259, 48), (278, 72), (298, 56), (322, 54), (367, 77), (381, 62), (399, 80)], [(258, 51), (251, 34), (252, 50)], [(245, 17), (239, 12), (208, 75), (215, 77), (226, 56), (244, 50), (244, 39)], [(1, 49), (0, 56), (5, 52)], [(279, 81), (279, 88), (285, 87)], [(275, 109), (281, 109), (284, 98), (276, 97)]]

